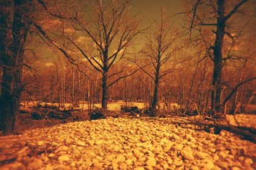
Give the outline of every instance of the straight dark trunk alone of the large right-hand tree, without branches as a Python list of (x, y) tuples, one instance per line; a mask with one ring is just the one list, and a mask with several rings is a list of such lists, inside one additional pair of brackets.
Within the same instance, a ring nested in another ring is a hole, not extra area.
[(221, 112), (222, 44), (225, 33), (224, 0), (218, 0), (215, 46), (213, 47), (212, 111)]

